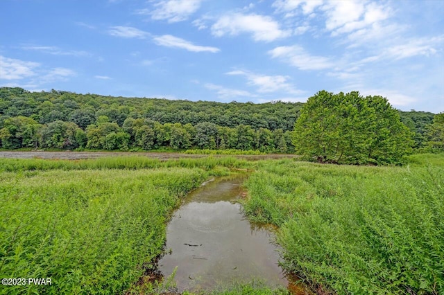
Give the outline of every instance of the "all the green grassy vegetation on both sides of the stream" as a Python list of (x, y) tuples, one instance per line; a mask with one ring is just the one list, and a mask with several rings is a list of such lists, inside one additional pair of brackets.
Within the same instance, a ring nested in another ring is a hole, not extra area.
[[(444, 154), (418, 154), (404, 167), (232, 157), (0, 159), (0, 274), (53, 279), (0, 293), (137, 293), (180, 197), (228, 168), (255, 169), (244, 210), (278, 226), (285, 269), (315, 289), (444, 291)], [(275, 292), (239, 285), (214, 294)]]

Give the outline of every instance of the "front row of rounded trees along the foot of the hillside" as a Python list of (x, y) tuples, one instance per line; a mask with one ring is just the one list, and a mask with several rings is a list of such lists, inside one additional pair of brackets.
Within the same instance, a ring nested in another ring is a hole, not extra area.
[(120, 127), (107, 116), (99, 116), (85, 130), (76, 123), (56, 120), (48, 124), (33, 118), (17, 116), (3, 121), (0, 129), (1, 147), (50, 148), (61, 150), (173, 150), (200, 148), (210, 150), (237, 149), (261, 152), (294, 152), (291, 132), (266, 128), (255, 130), (248, 125), (235, 128), (203, 122), (164, 123), (143, 118), (127, 118)]

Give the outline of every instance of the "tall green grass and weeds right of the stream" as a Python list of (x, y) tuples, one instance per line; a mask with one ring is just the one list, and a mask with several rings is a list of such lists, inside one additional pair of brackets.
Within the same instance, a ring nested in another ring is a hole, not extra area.
[(337, 294), (444, 294), (444, 156), (399, 167), (264, 161), (252, 220), (280, 227), (284, 267)]

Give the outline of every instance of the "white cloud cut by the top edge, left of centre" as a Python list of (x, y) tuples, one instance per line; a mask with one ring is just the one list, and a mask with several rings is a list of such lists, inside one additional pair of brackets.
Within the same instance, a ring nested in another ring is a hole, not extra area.
[(185, 21), (200, 8), (202, 0), (168, 0), (154, 4), (155, 10), (138, 10), (140, 15), (151, 15), (151, 19), (164, 20), (169, 23)]

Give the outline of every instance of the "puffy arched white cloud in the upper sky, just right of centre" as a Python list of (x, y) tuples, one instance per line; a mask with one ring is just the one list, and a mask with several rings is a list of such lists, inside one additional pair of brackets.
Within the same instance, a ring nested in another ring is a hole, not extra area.
[(250, 33), (255, 41), (271, 42), (290, 35), (288, 30), (282, 30), (277, 21), (264, 15), (243, 15), (229, 13), (223, 15), (212, 25), (212, 34), (217, 37), (223, 35), (239, 35)]

